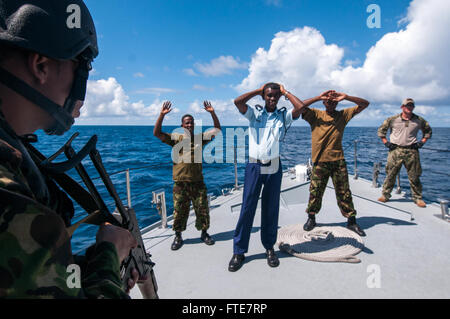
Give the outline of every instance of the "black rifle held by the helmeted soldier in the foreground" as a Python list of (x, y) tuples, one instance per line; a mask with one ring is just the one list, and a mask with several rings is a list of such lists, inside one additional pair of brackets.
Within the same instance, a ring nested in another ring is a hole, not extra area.
[[(71, 144), (78, 135), (78, 132), (73, 134), (72, 137), (49, 158), (45, 158), (44, 155), (30, 144), (28, 144), (27, 147), (33, 157), (39, 160), (39, 167), (43, 171), (50, 175), (61, 188), (63, 188), (88, 212), (88, 214), (97, 215), (94, 216), (94, 218), (89, 219), (89, 223), (100, 224), (102, 222), (109, 222), (130, 231), (138, 245), (130, 251), (129, 256), (125, 258), (120, 266), (120, 275), (124, 289), (127, 288), (128, 280), (132, 278), (131, 271), (135, 268), (139, 272), (139, 277), (146, 276), (148, 278), (144, 282), (138, 282), (138, 287), (141, 290), (143, 297), (145, 299), (158, 299), (158, 286), (153, 271), (155, 264), (150, 259), (151, 255), (145, 251), (145, 245), (136, 219), (136, 213), (133, 208), (124, 206), (117, 194), (116, 188), (103, 165), (100, 153), (96, 149), (97, 136), (93, 135), (80, 152), (76, 153)], [(62, 152), (64, 152), (68, 160), (60, 163), (52, 163), (52, 161)], [(109, 195), (113, 198), (119, 213), (119, 218), (114, 217), (114, 215), (109, 212), (105, 202), (92, 182), (92, 179), (89, 177), (86, 169), (81, 163), (87, 155), (89, 155), (89, 158), (94, 164)], [(72, 168), (77, 170), (88, 191), (65, 174), (66, 171)]]

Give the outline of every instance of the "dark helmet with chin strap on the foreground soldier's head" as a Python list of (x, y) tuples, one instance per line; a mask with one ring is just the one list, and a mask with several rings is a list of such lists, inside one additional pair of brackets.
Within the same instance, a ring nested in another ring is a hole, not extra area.
[(45, 109), (55, 119), (48, 134), (61, 135), (74, 123), (76, 101), (84, 101), (92, 60), (98, 55), (94, 21), (82, 0), (0, 0), (0, 45), (57, 60), (78, 60), (70, 95), (57, 105), (0, 68), (0, 82)]

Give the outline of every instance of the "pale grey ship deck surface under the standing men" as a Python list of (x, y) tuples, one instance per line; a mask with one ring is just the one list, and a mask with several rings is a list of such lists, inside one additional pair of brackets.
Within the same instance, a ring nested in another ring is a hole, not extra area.
[[(170, 250), (171, 228), (143, 230), (145, 245), (156, 263), (160, 298), (450, 298), (450, 223), (438, 217), (440, 207), (428, 203), (427, 208), (419, 208), (400, 195), (379, 203), (376, 199), (381, 189), (372, 188), (371, 182), (350, 176), (350, 184), (357, 221), (367, 234), (363, 237), (365, 248), (357, 255), (361, 263), (306, 261), (275, 247), (280, 266), (270, 268), (261, 244), (258, 209), (245, 263), (237, 272), (229, 272), (239, 217), (239, 207), (232, 213), (231, 205), (242, 201), (242, 192), (237, 191), (211, 202), (208, 232), (216, 240), (213, 246), (200, 240), (192, 215), (178, 251)], [(299, 183), (285, 174), (282, 189), (293, 185)], [(331, 181), (328, 186), (316, 217), (318, 226), (345, 226)], [(284, 195), (288, 207), (280, 205), (280, 227), (306, 221), (308, 188), (309, 184), (304, 184)], [(411, 221), (408, 212), (415, 220)], [(368, 279), (373, 282), (370, 278), (377, 274), (380, 287), (369, 288)], [(131, 296), (140, 298), (139, 290), (134, 288)]]

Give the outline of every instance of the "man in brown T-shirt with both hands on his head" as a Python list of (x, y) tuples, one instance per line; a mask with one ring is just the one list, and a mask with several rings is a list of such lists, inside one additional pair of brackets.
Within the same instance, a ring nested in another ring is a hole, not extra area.
[[(354, 107), (337, 111), (341, 101), (350, 101)], [(336, 199), (341, 214), (348, 219), (347, 228), (360, 236), (364, 231), (356, 223), (356, 210), (353, 206), (352, 193), (348, 182), (347, 164), (342, 150), (342, 137), (347, 123), (358, 113), (369, 106), (365, 99), (349, 96), (329, 90), (321, 95), (304, 101), (306, 106), (322, 101), (325, 111), (305, 108), (303, 119), (311, 126), (311, 147), (313, 169), (311, 174), (310, 195), (306, 213), (308, 220), (303, 226), (306, 231), (316, 226), (316, 214), (322, 207), (322, 197), (331, 176)]]

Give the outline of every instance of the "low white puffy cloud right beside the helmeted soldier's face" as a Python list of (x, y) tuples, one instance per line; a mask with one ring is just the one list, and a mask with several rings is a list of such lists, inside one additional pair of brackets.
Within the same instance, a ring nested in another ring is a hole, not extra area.
[[(130, 101), (122, 85), (110, 77), (107, 80), (88, 81), (86, 101), (80, 118), (151, 118), (159, 114), (161, 105), (159, 99), (155, 99), (150, 105), (143, 101)], [(177, 108), (173, 110), (173, 113), (178, 112)]]

